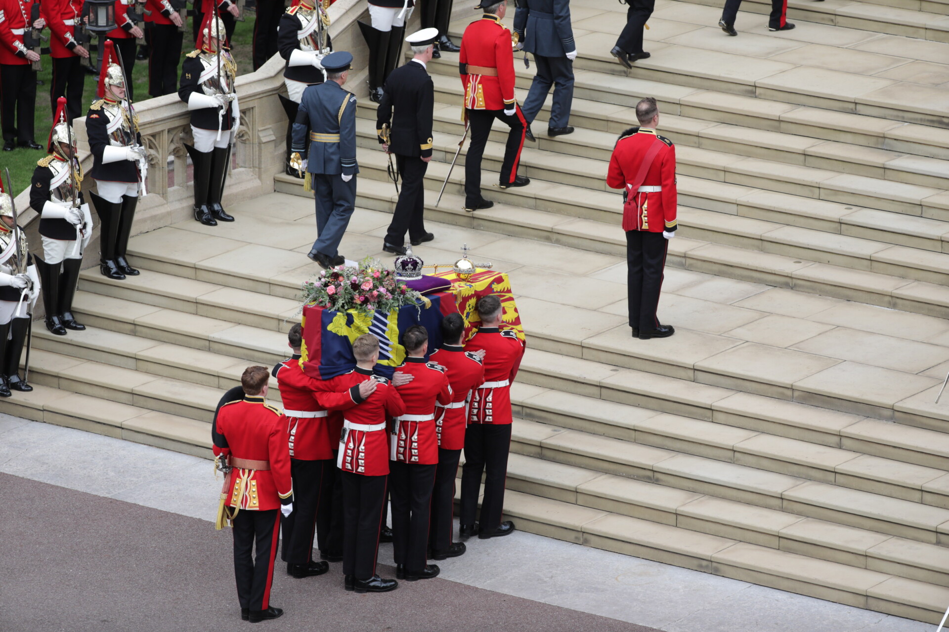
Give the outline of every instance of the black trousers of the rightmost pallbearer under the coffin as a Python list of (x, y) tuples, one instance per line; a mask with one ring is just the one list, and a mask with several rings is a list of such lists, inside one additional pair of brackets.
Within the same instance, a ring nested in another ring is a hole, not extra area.
[(501, 524), (510, 450), (511, 424), (470, 424), (465, 430), (465, 464), (461, 468), (461, 524), (474, 525), (482, 472), (485, 477), (481, 529), (491, 531)]

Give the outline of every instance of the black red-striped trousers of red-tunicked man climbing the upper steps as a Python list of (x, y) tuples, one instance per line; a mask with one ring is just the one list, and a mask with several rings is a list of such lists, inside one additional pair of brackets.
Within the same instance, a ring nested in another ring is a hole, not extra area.
[(471, 125), (472, 142), (465, 155), (465, 207), (472, 208), (481, 201), (481, 158), (484, 156), (488, 136), (494, 119), (503, 121), (511, 132), (504, 146), (504, 162), (501, 163), (499, 183), (506, 186), (517, 177), (517, 165), (521, 161), (524, 149), (524, 135), (527, 133), (527, 121), (518, 105), (514, 114), (508, 116), (504, 110), (468, 110), (468, 122)]

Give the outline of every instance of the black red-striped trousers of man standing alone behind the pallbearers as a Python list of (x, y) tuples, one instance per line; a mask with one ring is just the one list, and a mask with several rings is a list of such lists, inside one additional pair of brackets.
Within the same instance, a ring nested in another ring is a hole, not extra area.
[(237, 601), (242, 608), (266, 610), (280, 536), (280, 510), (241, 510), (233, 519), (233, 536)]

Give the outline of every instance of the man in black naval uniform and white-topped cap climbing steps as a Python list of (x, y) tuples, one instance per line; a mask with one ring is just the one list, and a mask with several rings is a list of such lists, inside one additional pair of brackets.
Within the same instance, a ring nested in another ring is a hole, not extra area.
[[(382, 150), (396, 154), (402, 176), (399, 202), (382, 242), (383, 250), (397, 255), (405, 254), (406, 230), (412, 245), (435, 239), (432, 233), (425, 231), (422, 218), (425, 210), (422, 180), (432, 159), (432, 112), (435, 108), (435, 85), (428, 76), (426, 64), (432, 61), (437, 39), (437, 28), (422, 28), (405, 38), (415, 57), (389, 75), (376, 114), (376, 131)], [(386, 143), (382, 126), (388, 125), (389, 121), (392, 121), (392, 129)]]

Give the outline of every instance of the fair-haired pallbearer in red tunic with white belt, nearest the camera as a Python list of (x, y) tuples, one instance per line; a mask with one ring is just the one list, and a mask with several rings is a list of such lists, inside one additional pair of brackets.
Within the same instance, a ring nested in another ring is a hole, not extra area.
[(319, 385), (317, 399), (330, 410), (343, 410), (337, 465), (343, 477), (343, 572), (346, 590), (387, 592), (399, 587), (376, 574), (382, 501), (389, 474), (386, 415), (405, 412), (387, 379), (373, 375), (379, 340), (363, 334), (353, 341), (356, 369)]

